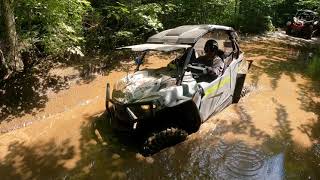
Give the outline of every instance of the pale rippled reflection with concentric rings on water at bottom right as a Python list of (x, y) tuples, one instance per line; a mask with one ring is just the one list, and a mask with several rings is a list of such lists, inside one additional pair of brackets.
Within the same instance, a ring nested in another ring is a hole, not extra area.
[(194, 150), (190, 162), (198, 163), (192, 163), (193, 166), (189, 168), (199, 169), (200, 174), (193, 176), (201, 179), (283, 178), (283, 155), (268, 158), (261, 150), (244, 143), (227, 144), (223, 141), (211, 148)]

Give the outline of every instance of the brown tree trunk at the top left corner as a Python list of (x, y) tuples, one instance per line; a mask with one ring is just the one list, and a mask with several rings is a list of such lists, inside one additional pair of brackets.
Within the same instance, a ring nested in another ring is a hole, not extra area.
[(12, 0), (0, 0), (1, 18), (4, 23), (6, 65), (12, 71), (23, 70), (23, 62), (18, 55), (18, 39)]

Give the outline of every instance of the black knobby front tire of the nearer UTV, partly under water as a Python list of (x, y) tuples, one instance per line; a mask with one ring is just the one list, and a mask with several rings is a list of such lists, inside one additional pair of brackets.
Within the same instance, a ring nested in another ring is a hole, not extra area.
[(144, 156), (153, 155), (160, 150), (176, 145), (186, 140), (188, 133), (179, 128), (167, 128), (157, 133), (152, 133), (142, 146)]

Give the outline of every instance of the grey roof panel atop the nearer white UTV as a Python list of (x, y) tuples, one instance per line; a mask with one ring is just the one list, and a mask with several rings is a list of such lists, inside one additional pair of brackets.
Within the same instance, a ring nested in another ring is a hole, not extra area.
[(203, 35), (215, 30), (234, 31), (231, 27), (221, 25), (185, 25), (153, 35), (147, 43), (194, 44)]

